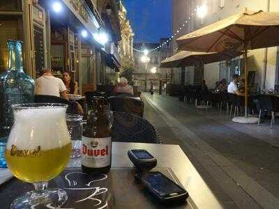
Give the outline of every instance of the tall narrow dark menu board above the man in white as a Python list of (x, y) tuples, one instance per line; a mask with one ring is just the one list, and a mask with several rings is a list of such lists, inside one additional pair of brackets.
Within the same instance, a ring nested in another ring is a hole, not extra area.
[(35, 64), (36, 77), (40, 76), (40, 70), (45, 66), (43, 28), (34, 25), (34, 47), (35, 47)]

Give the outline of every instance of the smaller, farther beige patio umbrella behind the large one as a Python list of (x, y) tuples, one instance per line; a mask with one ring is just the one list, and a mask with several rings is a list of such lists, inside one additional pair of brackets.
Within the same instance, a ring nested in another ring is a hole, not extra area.
[[(229, 60), (240, 56), (241, 52), (189, 52), (179, 51), (161, 62), (161, 68), (182, 68), (193, 65), (203, 65), (218, 61)], [(204, 79), (202, 74), (202, 80)], [(202, 89), (204, 88), (202, 82)]]

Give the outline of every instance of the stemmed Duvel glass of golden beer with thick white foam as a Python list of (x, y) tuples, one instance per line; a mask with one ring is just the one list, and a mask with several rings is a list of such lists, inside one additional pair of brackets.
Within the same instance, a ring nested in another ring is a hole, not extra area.
[(15, 123), (8, 137), (6, 162), (13, 175), (35, 190), (15, 199), (10, 208), (40, 205), (59, 208), (66, 203), (63, 189), (47, 189), (47, 183), (66, 167), (71, 143), (66, 125), (66, 104), (15, 104)]

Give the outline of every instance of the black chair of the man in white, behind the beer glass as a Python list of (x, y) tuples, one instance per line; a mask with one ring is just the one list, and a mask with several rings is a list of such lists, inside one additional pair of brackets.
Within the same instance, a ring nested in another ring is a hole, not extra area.
[(77, 109), (77, 102), (68, 101), (60, 97), (53, 95), (35, 95), (35, 103), (54, 103), (54, 104), (68, 104), (67, 113), (68, 114), (79, 114)]

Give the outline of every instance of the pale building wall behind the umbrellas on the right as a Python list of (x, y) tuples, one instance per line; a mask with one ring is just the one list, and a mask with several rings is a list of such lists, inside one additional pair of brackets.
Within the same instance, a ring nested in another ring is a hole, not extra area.
[[(172, 31), (179, 33), (175, 36), (183, 36), (183, 34), (195, 31), (203, 26), (223, 20), (225, 17), (236, 13), (243, 13), (247, 10), (251, 11), (271, 11), (279, 12), (279, 1), (276, 0), (193, 0), (172, 1)], [(197, 6), (206, 6), (207, 13), (203, 18), (197, 17), (195, 9)], [(193, 13), (193, 15), (192, 15)], [(190, 20), (187, 24), (185, 21)], [(183, 26), (182, 24), (185, 24)], [(175, 38), (174, 38), (175, 39)], [(176, 52), (177, 45), (172, 42), (173, 53)], [(248, 52), (248, 70), (255, 71), (255, 89), (258, 88), (275, 88), (279, 84), (278, 72), (278, 47), (269, 47), (268, 49), (256, 49)], [(220, 63), (211, 63), (204, 65), (204, 69), (199, 66), (188, 68), (174, 69), (175, 84), (199, 84), (202, 73), (209, 88), (213, 88), (216, 81), (227, 79), (229, 82), (233, 74), (243, 76), (243, 61), (242, 57), (237, 57), (230, 61)]]

